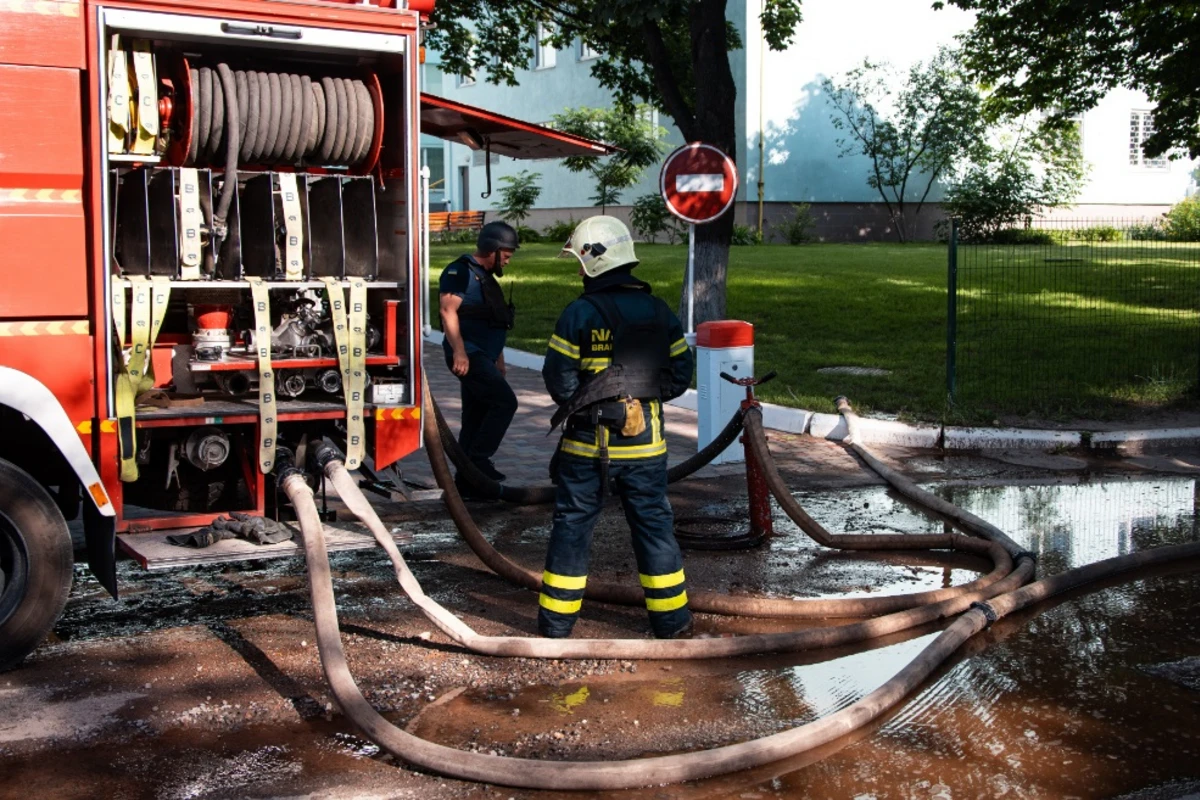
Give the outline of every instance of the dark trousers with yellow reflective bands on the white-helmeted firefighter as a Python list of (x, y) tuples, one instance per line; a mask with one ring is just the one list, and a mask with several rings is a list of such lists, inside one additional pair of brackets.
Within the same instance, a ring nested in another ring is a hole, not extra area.
[[(674, 513), (667, 501), (666, 458), (613, 461), (608, 474), (632, 534), (650, 627), (656, 637), (668, 638), (688, 626), (691, 612), (683, 554), (674, 539)], [(604, 505), (598, 459), (563, 456), (558, 475), (538, 608), (539, 632), (554, 638), (569, 636), (578, 619), (592, 533)]]

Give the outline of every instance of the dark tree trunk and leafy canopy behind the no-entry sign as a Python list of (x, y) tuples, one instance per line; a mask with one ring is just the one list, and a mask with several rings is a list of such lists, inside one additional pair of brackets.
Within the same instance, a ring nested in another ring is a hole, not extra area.
[[(517, 83), (541, 36), (557, 47), (581, 40), (599, 58), (592, 74), (631, 110), (649, 102), (689, 142), (737, 151), (737, 89), (730, 50), (742, 46), (727, 0), (439, 0), (426, 42), (443, 68), (493, 83)], [(763, 0), (763, 38), (786, 49), (800, 0)], [(725, 314), (725, 272), (733, 215), (696, 229), (696, 317)]]

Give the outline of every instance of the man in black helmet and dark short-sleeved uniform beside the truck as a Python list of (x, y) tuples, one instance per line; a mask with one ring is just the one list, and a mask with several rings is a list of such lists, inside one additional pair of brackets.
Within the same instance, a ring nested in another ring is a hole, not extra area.
[[(490, 222), (479, 231), (474, 254), (446, 265), (438, 282), (442, 347), (446, 366), (462, 386), (458, 445), (494, 481), (505, 476), (492, 464), (492, 456), (517, 411), (517, 397), (504, 377), (512, 305), (505, 302), (496, 278), (504, 275), (520, 246), (512, 225)], [(470, 494), (461, 480), (456, 483), (460, 492)]]

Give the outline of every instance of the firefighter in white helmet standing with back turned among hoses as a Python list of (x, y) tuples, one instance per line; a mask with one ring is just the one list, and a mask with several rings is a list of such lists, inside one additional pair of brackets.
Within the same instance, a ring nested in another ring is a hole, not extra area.
[(667, 501), (662, 402), (691, 383), (691, 350), (679, 319), (631, 275), (637, 255), (619, 219), (584, 219), (559, 258), (580, 265), (583, 294), (558, 318), (541, 373), (559, 405), (552, 428), (564, 431), (538, 630), (570, 634), (583, 602), (592, 531), (611, 483), (632, 529), (654, 634), (688, 636), (692, 622)]

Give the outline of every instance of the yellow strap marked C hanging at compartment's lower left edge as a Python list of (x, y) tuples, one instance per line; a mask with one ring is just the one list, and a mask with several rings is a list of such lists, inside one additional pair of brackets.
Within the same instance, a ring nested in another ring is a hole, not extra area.
[[(130, 360), (120, 365), (116, 375), (116, 432), (120, 441), (121, 480), (138, 480), (137, 463), (137, 398), (142, 392), (154, 389), (154, 350), (158, 330), (167, 315), (167, 303), (170, 300), (169, 278), (156, 276), (146, 278), (137, 275), (130, 278), (133, 284), (133, 307), (130, 335), (132, 337)], [(124, 294), (124, 289), (121, 290)], [(124, 305), (124, 303), (122, 303)], [(124, 319), (124, 308), (121, 309)], [(115, 319), (115, 314), (114, 314)]]

